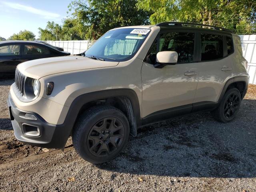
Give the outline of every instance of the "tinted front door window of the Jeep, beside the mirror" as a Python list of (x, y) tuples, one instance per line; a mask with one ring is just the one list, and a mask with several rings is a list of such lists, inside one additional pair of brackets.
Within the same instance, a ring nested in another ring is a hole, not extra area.
[(159, 51), (176, 51), (178, 63), (193, 62), (194, 42), (194, 33), (163, 33), (160, 34)]

